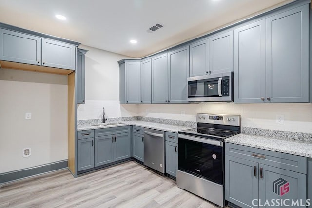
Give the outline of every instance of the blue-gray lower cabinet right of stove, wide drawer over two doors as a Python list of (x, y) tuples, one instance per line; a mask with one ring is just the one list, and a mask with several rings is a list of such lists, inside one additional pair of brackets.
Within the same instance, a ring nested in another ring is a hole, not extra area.
[(305, 203), (306, 198), (307, 158), (225, 143), (227, 201), (242, 208), (257, 208), (267, 200)]

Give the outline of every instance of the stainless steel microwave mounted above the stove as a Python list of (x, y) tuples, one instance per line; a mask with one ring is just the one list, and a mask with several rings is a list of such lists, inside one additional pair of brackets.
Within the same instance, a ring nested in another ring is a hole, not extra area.
[(233, 102), (233, 72), (187, 78), (187, 101)]

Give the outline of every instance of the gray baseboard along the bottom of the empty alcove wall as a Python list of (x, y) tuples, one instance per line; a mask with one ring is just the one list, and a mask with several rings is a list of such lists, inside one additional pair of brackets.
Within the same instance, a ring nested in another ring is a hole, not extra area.
[(11, 172), (5, 172), (0, 174), (0, 184), (20, 180), (22, 178), (28, 178), (31, 176), (52, 172), (68, 167), (68, 160), (61, 160), (54, 163), (44, 164), (32, 168), (15, 170)]

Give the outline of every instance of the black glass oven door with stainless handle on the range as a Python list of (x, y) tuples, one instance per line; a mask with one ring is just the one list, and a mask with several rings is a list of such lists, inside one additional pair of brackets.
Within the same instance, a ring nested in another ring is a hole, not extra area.
[(223, 185), (223, 142), (179, 134), (178, 170)]

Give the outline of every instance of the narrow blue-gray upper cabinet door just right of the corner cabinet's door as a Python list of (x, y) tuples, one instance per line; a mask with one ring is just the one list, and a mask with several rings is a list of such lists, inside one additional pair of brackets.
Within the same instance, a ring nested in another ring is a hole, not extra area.
[(152, 102), (152, 65), (151, 59), (141, 62), (141, 103)]

